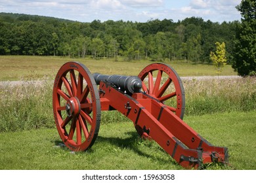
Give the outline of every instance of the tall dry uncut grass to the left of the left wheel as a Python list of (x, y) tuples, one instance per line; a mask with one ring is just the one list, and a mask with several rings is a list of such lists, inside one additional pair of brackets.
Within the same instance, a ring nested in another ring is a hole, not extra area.
[(54, 127), (51, 88), (48, 78), (0, 85), (0, 132)]

